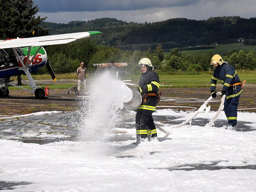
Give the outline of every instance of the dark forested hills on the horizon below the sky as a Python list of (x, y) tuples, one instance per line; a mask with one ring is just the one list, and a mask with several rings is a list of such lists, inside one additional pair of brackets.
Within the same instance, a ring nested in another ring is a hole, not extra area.
[(114, 18), (101, 18), (71, 21), (68, 24), (43, 24), (51, 28), (49, 35), (101, 31), (102, 34), (95, 38), (98, 44), (130, 50), (155, 49), (158, 43), (164, 49), (170, 49), (214, 42), (233, 43), (238, 38), (256, 38), (256, 18), (244, 19), (239, 16), (211, 17), (207, 20), (177, 18), (153, 23), (128, 23)]

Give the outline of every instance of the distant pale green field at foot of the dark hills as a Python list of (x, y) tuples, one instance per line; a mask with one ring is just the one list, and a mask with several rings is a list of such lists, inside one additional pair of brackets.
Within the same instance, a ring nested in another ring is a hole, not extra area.
[[(213, 54), (223, 55), (225, 52), (230, 51), (232, 49), (240, 50), (255, 50), (256, 46), (244, 45), (243, 43), (231, 43), (231, 44), (219, 44), (214, 45), (215, 49), (204, 49), (204, 50), (190, 50), (190, 51), (182, 51), (182, 53), (209, 53), (210, 51)], [(165, 52), (168, 53), (168, 52)]]

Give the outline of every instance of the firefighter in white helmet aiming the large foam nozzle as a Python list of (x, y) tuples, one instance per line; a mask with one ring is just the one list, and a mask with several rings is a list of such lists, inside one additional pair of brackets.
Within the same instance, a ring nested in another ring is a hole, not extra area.
[(159, 89), (159, 77), (153, 71), (153, 66), (148, 58), (143, 58), (139, 62), (142, 72), (140, 77), (140, 94), (142, 102), (136, 113), (136, 143), (141, 141), (157, 140), (156, 126), (152, 113), (156, 110)]

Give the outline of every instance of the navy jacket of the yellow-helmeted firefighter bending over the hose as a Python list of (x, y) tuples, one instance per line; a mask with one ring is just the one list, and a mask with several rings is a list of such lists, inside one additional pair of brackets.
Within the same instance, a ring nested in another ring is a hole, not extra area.
[(235, 68), (225, 62), (222, 63), (222, 65), (218, 65), (218, 67), (213, 71), (211, 92), (215, 91), (217, 80), (220, 80), (220, 83), (223, 84), (222, 90), (225, 92), (228, 91), (230, 84), (241, 82), (236, 74)]

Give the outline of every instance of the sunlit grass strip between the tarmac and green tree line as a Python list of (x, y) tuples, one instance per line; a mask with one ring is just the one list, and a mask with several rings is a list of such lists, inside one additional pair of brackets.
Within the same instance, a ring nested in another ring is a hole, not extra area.
[[(247, 84), (256, 84), (256, 71), (245, 71), (245, 70), (237, 70), (237, 74), (241, 81), (246, 80)], [(77, 79), (76, 73), (68, 73), (68, 74), (56, 74), (58, 79)], [(132, 80), (134, 83), (138, 84), (140, 79), (140, 74), (135, 75), (127, 75), (121, 76), (121, 80)], [(172, 85), (172, 87), (209, 87), (211, 84), (212, 72), (204, 71), (199, 75), (186, 75), (184, 74), (172, 74), (172, 75), (159, 75), (160, 84), (164, 85)], [(49, 74), (45, 75), (35, 75), (35, 80), (41, 79), (51, 79)], [(13, 79), (16, 80), (16, 79)], [(220, 84), (218, 82), (217, 84)], [(50, 89), (68, 89), (74, 84), (52, 84), (47, 85)], [(45, 87), (46, 85), (40, 85)], [(28, 86), (24, 86), (28, 88)], [(169, 86), (166, 86), (169, 87)], [(16, 87), (10, 87), (10, 90), (16, 90)]]

